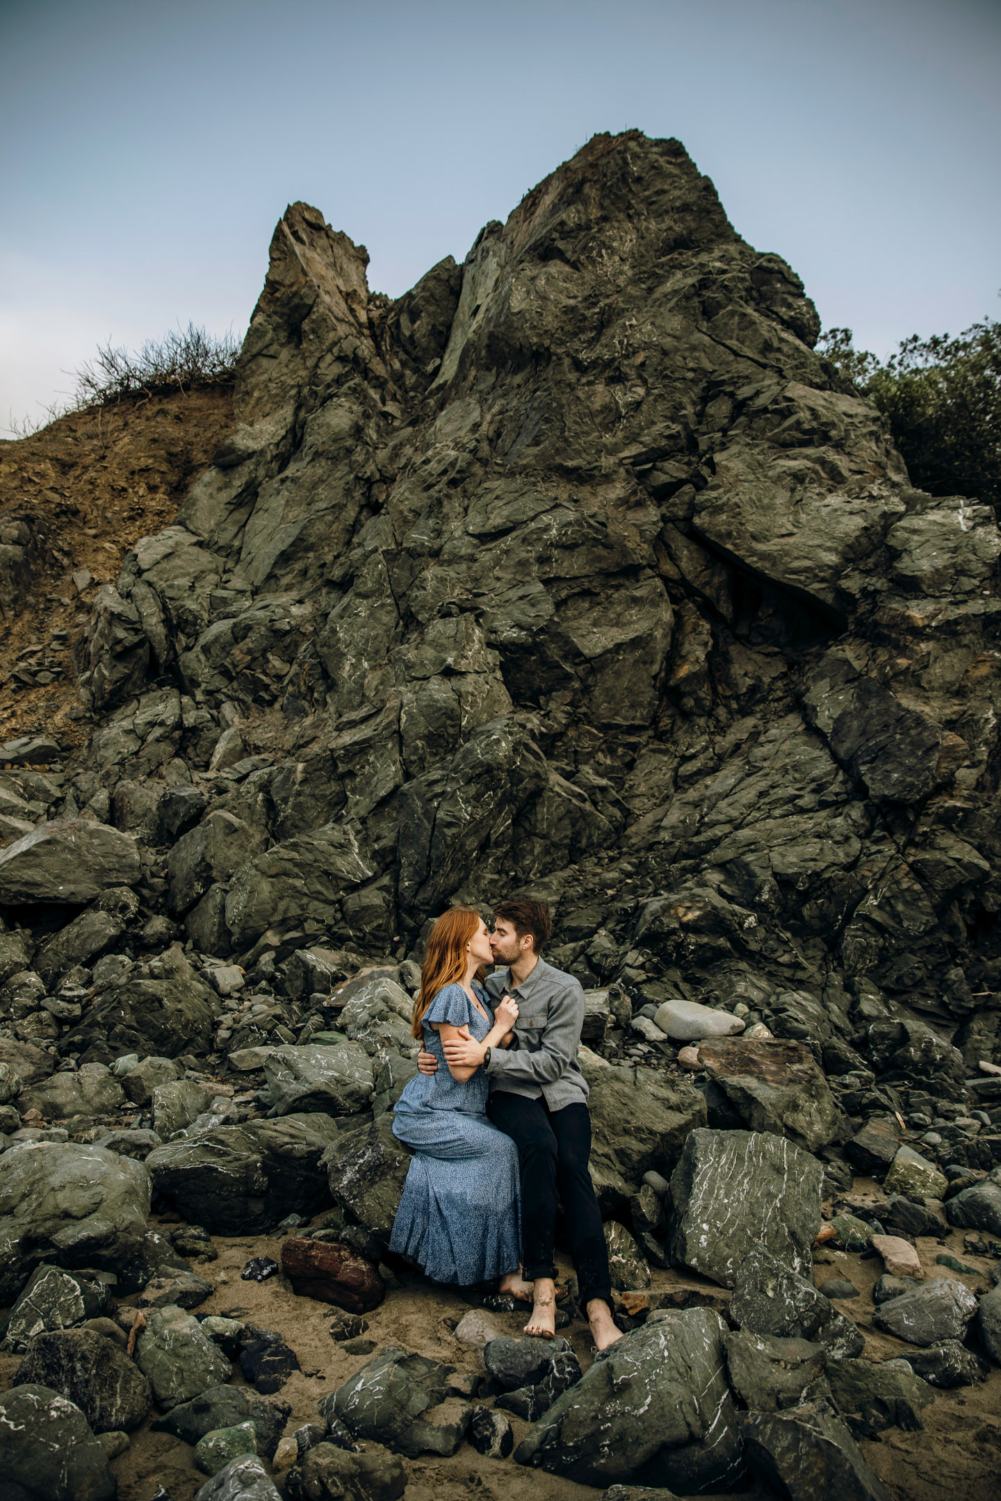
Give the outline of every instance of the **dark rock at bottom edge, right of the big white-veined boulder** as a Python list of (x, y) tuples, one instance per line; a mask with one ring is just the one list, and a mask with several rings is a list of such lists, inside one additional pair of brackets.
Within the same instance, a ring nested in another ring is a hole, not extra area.
[(747, 1462), (765, 1484), (789, 1501), (891, 1501), (861, 1450), (828, 1402), (804, 1402), (786, 1412), (746, 1412), (741, 1432)]

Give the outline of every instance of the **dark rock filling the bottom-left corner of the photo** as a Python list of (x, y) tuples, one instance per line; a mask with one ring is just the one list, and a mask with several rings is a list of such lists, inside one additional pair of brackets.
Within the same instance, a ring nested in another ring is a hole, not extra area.
[(0, 1393), (0, 1471), (32, 1501), (114, 1501), (119, 1493), (87, 1418), (51, 1387)]

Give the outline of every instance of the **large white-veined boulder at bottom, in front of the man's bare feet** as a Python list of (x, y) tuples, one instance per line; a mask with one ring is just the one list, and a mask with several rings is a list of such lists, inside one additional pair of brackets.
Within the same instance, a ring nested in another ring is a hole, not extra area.
[(639, 1480), (683, 1495), (728, 1490), (743, 1469), (710, 1309), (657, 1310), (557, 1397), (515, 1459), (588, 1486)]

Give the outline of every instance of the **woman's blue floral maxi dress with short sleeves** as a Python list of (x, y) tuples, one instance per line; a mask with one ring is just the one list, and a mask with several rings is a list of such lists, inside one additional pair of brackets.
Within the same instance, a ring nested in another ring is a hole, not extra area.
[(471, 1286), (516, 1271), (521, 1259), (518, 1148), (486, 1118), (488, 1079), (479, 1069), (461, 1084), (449, 1073), (431, 1022), (468, 1027), (482, 1042), (494, 1025), (461, 985), (446, 985), (423, 1016), (423, 1043), (438, 1072), (419, 1073), (401, 1094), (393, 1135), (413, 1147), (390, 1250), (410, 1256), (432, 1282)]

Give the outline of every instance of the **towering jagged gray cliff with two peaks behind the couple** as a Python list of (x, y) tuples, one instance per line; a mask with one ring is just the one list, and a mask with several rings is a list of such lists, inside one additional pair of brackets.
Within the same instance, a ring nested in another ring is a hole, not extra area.
[(365, 266), (278, 225), (237, 425), (92, 611), (71, 805), (215, 955), (530, 889), (585, 983), (989, 1057), (993, 515), (909, 486), (677, 141), (596, 137), (396, 302)]

